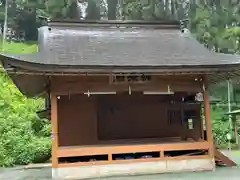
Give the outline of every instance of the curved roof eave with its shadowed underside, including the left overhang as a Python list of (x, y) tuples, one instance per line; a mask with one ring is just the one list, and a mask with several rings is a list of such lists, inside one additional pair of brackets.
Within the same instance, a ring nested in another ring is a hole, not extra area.
[[(114, 66), (114, 65), (54, 65), (24, 61), (24, 57), (0, 55), (5, 71), (19, 90), (28, 97), (46, 91), (49, 76), (53, 75), (109, 75), (113, 73), (144, 73), (151, 75), (207, 75), (210, 82), (240, 75), (240, 63), (215, 65)], [(33, 57), (34, 58), (34, 57)], [(33, 83), (33, 84), (31, 84)], [(34, 87), (34, 88), (32, 88)]]

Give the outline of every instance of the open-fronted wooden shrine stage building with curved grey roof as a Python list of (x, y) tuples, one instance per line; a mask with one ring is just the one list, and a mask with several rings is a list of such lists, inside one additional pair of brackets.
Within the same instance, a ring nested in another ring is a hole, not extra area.
[(0, 58), (24, 95), (50, 99), (54, 178), (215, 169), (208, 87), (240, 59), (178, 23), (50, 22), (38, 53)]

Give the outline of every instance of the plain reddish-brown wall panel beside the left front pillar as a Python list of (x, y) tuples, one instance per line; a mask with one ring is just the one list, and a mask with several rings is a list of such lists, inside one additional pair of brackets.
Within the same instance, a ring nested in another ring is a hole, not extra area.
[(93, 98), (84, 95), (61, 96), (58, 100), (60, 146), (97, 142), (97, 114)]

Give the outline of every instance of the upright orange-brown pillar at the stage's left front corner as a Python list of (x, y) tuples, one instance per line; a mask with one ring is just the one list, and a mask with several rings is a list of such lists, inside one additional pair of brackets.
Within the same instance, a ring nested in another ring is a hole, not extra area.
[(51, 94), (51, 123), (52, 123), (52, 168), (58, 167), (58, 118), (57, 118), (57, 96)]

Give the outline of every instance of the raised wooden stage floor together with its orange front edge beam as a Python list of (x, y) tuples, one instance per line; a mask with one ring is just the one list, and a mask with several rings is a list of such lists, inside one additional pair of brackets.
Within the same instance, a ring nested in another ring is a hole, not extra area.
[(65, 146), (58, 149), (58, 157), (99, 154), (137, 153), (173, 150), (208, 149), (206, 141), (182, 141), (179, 138), (99, 141), (95, 145)]

